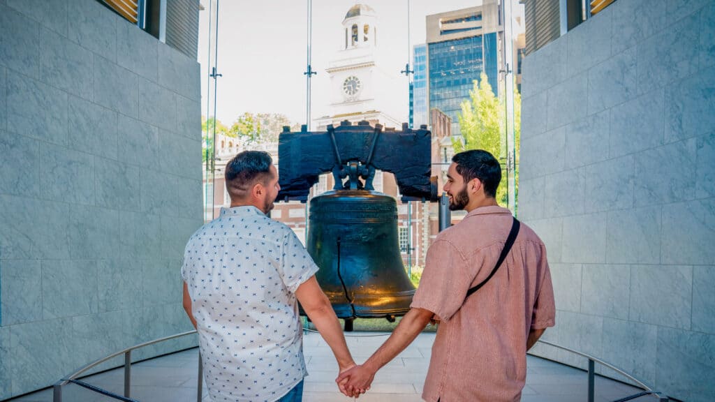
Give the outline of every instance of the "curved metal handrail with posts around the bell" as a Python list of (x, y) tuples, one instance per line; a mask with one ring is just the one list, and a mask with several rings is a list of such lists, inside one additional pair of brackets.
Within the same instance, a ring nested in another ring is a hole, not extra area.
[[(307, 331), (310, 332), (317, 332), (315, 330), (310, 330), (307, 328), (304, 328)], [(69, 376), (66, 376), (66, 378), (62, 378), (61, 380), (57, 381), (54, 386), (53, 386), (53, 402), (62, 402), (62, 387), (65, 386), (67, 383), (74, 382), (74, 380), (81, 376), (82, 373), (85, 373), (88, 371), (90, 368), (94, 368), (98, 366), (99, 364), (104, 363), (105, 361), (109, 361), (112, 358), (115, 358), (117, 356), (120, 356), (124, 354), (124, 397), (129, 398), (131, 395), (131, 385), (132, 385), (132, 350), (138, 349), (138, 348), (143, 348), (144, 346), (148, 345), (153, 345), (154, 343), (160, 343), (164, 342), (165, 340), (171, 340), (174, 338), (179, 338), (182, 336), (186, 335), (193, 335), (194, 333), (197, 333), (196, 330), (190, 330), (188, 332), (184, 333), (177, 333), (175, 335), (169, 335), (164, 338), (159, 338), (159, 339), (154, 339), (154, 340), (149, 340), (149, 342), (144, 342), (144, 343), (139, 343), (138, 345), (130, 346), (129, 348), (125, 348), (122, 350), (119, 350), (116, 353), (112, 353), (111, 355), (101, 358), (98, 361), (94, 361), (93, 363), (89, 363), (87, 366), (84, 366), (80, 368), (78, 371), (75, 373), (70, 374)], [(389, 335), (389, 333), (386, 333), (384, 335)], [(566, 348), (566, 346), (561, 346), (557, 345), (556, 343), (551, 343), (548, 342), (547, 340), (538, 340), (537, 343), (542, 343), (543, 345), (549, 345), (553, 346), (554, 348), (558, 348), (561, 350), (566, 350), (567, 352), (574, 353), (578, 356), (582, 356), (584, 358), (588, 359), (588, 402), (593, 402), (594, 401), (594, 393), (595, 393), (595, 385), (596, 385), (596, 371), (595, 371), (595, 363), (601, 364), (602, 366), (605, 366), (607, 368), (610, 368), (613, 371), (616, 371), (616, 373), (619, 373), (623, 376), (626, 376), (629, 380), (633, 381), (633, 383), (636, 383), (636, 385), (646, 391), (646, 394), (650, 394), (653, 396), (656, 396), (658, 398), (659, 402), (667, 402), (669, 401), (669, 398), (667, 396), (664, 396), (661, 392), (659, 391), (654, 391), (653, 388), (650, 386), (647, 386), (646, 383), (643, 381), (638, 380), (638, 378), (635, 378), (631, 376), (630, 374), (626, 373), (625, 371), (621, 370), (620, 368), (617, 368), (616, 366), (613, 366), (611, 363), (607, 363), (606, 361), (603, 361), (599, 358), (596, 358), (594, 356), (589, 355), (588, 353), (583, 353), (579, 352), (578, 350), (573, 350), (571, 348)], [(202, 400), (202, 380), (203, 380), (203, 366), (201, 363), (201, 354), (199, 353), (199, 373), (198, 373), (198, 383), (197, 383), (197, 402), (201, 402)], [(79, 384), (84, 386), (83, 384)], [(90, 388), (92, 389), (92, 388)], [(97, 391), (96, 389), (92, 389), (92, 391)], [(639, 394), (637, 396), (631, 396), (628, 398), (623, 398), (620, 401), (628, 401), (632, 398), (637, 398), (640, 396), (644, 396), (645, 394)], [(112, 396), (112, 395), (109, 395)]]

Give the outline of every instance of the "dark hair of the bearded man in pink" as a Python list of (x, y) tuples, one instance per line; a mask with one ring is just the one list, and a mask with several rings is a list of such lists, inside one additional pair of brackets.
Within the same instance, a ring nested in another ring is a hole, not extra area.
[(452, 162), (457, 164), (457, 172), (465, 183), (474, 178), (479, 179), (484, 186), (484, 195), (496, 195), (496, 188), (501, 182), (501, 165), (493, 155), (484, 149), (470, 149), (454, 155)]

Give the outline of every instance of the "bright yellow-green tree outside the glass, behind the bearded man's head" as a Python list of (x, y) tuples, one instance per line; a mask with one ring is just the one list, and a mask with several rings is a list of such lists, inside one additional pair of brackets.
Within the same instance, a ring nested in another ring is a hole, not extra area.
[[(462, 104), (462, 112), (457, 116), (464, 142), (452, 139), (455, 152), (467, 149), (484, 149), (500, 161), (506, 161), (506, 99), (495, 97), (487, 75), (480, 74), (469, 92), (469, 99)], [(514, 85), (514, 138), (516, 171), (515, 184), (518, 192), (519, 146), (521, 144), (521, 94)], [(506, 170), (496, 194), (500, 205), (507, 205)]]

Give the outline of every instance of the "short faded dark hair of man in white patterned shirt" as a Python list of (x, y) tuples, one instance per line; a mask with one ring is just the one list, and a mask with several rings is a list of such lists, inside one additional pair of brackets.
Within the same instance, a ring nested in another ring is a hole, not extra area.
[(257, 182), (264, 184), (272, 178), (273, 160), (268, 152), (243, 151), (226, 164), (226, 190), (231, 198), (242, 199)]

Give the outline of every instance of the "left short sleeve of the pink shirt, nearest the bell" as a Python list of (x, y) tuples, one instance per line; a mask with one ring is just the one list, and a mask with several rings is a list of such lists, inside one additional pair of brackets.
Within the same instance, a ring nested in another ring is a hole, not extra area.
[(474, 279), (470, 263), (448, 240), (435, 240), (427, 250), (425, 270), (410, 307), (430, 310), (448, 321), (464, 303)]

